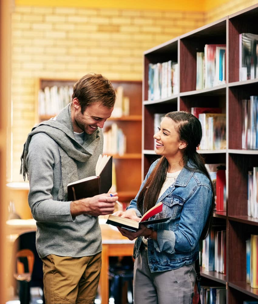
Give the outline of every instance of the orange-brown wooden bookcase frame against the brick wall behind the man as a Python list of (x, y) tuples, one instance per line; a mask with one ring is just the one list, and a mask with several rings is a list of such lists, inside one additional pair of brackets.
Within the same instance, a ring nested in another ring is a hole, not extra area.
[[(53, 87), (73, 86), (76, 80), (72, 79), (45, 79), (39, 78), (36, 86), (35, 123), (48, 120), (53, 115), (39, 115), (38, 92), (46, 86)], [(141, 110), (142, 110), (142, 82), (141, 81), (111, 81), (114, 89), (123, 86), (124, 96), (130, 98), (129, 115), (121, 117), (110, 117), (104, 124), (103, 132), (116, 123), (123, 130), (127, 140), (127, 151), (123, 155), (113, 155), (116, 168), (116, 183), (119, 201), (130, 202), (141, 185)], [(58, 114), (58, 113), (56, 113)], [(137, 134), (137, 136), (136, 136)], [(10, 185), (11, 187), (12, 185)]]

